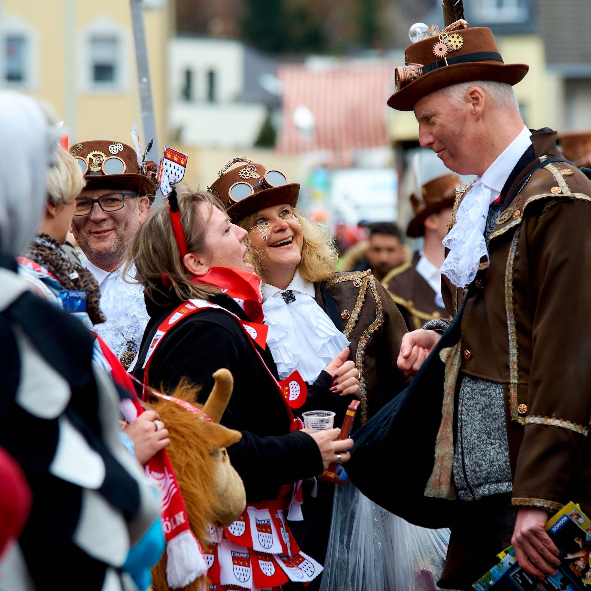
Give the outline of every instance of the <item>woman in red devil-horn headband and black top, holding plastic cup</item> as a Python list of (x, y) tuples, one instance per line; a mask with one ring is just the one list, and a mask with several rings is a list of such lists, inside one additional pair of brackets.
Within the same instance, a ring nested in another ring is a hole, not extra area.
[[(228, 454), (247, 508), (213, 534), (219, 545), (208, 576), (247, 588), (310, 582), (322, 567), (300, 553), (287, 526), (286, 519), (301, 515), (294, 484), (348, 460), (352, 441), (335, 441), (339, 429), (308, 434), (294, 420), (289, 403), (300, 403), (306, 388), (297, 375), (278, 382), (261, 280), (245, 262), (246, 232), (209, 193), (183, 190), (169, 204), (152, 212), (128, 253), (150, 315), (134, 371), (146, 385), (168, 391), (185, 378), (209, 392), (221, 367), (234, 376), (220, 422), (242, 432)], [(342, 365), (339, 358), (327, 369), (335, 375)], [(328, 390), (330, 382), (325, 372), (314, 388)]]

